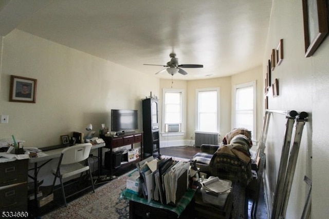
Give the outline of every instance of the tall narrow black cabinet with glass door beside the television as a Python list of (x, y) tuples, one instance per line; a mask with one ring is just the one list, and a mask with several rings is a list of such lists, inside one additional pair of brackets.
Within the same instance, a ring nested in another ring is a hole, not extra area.
[(149, 157), (160, 152), (159, 144), (159, 100), (142, 100), (144, 156)]

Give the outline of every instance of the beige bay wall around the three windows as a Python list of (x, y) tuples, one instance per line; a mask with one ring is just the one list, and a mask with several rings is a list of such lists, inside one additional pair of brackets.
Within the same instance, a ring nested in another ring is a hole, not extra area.
[[(204, 80), (191, 80), (191, 81), (173, 81), (173, 89), (184, 89), (186, 91), (186, 133), (184, 136), (169, 136), (162, 137), (161, 146), (166, 147), (168, 142), (176, 142), (180, 140), (178, 145), (190, 144), (190, 137), (192, 136), (192, 141), (194, 142), (194, 131), (196, 130), (196, 89), (199, 88), (211, 88), (220, 87), (220, 140), (224, 137), (226, 133), (231, 131), (231, 99), (233, 86), (237, 84), (243, 84), (251, 81), (256, 81), (257, 83), (257, 137), (262, 129), (262, 113), (263, 113), (263, 84), (262, 84), (262, 66), (255, 67), (253, 69), (240, 72), (239, 74), (233, 75), (231, 77), (204, 79)], [(160, 93), (162, 93), (163, 88), (171, 88), (172, 80), (160, 80)], [(162, 96), (161, 96), (162, 97)], [(162, 100), (160, 100), (161, 102)], [(162, 104), (161, 104), (162, 105)], [(162, 106), (160, 105), (160, 108)], [(162, 113), (162, 112), (161, 112)], [(160, 114), (161, 114), (160, 113)], [(185, 140), (185, 141), (184, 141)], [(173, 143), (175, 144), (175, 143)], [(170, 145), (173, 145), (170, 144)], [(176, 144), (177, 145), (177, 144)]]

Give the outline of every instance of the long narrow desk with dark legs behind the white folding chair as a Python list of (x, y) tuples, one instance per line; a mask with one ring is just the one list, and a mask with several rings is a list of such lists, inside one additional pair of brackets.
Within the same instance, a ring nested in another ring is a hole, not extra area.
[[(93, 144), (93, 147), (92, 147), (92, 150), (98, 149), (98, 173), (99, 174), (100, 174), (101, 166), (102, 166), (102, 148), (103, 147), (105, 147), (105, 143)], [(34, 164), (34, 167), (32, 169), (29, 169), (29, 170), (34, 171), (33, 176), (31, 176), (31, 175), (28, 175), (28, 176), (30, 178), (32, 178), (33, 181), (34, 181), (34, 201), (35, 201), (35, 204), (38, 203), (38, 199), (37, 199), (37, 196), (38, 196), (38, 172), (39, 172), (40, 168), (45, 166), (46, 163), (48, 163), (53, 158), (59, 158), (61, 156), (61, 153), (62, 153), (63, 149), (64, 148), (46, 151), (45, 153), (47, 154), (47, 156), (29, 158), (29, 163)], [(42, 150), (42, 148), (41, 148), (41, 150)], [(42, 163), (42, 165), (38, 166), (38, 162), (42, 162), (42, 161), (45, 161), (45, 162)]]

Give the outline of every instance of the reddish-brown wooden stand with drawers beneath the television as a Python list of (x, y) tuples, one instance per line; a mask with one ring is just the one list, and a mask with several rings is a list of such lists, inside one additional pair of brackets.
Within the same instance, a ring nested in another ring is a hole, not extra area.
[(118, 167), (113, 166), (112, 156), (109, 156), (109, 164), (111, 168), (109, 171), (111, 173), (111, 177), (113, 176), (113, 170), (121, 167), (126, 167), (132, 164), (135, 164), (143, 159), (143, 133), (142, 132), (124, 132), (123, 134), (117, 135), (100, 135), (100, 137), (105, 141), (105, 148), (108, 148), (110, 154), (113, 153), (113, 149), (120, 148), (126, 145), (131, 145), (131, 148), (134, 148), (135, 143), (140, 143), (140, 153), (139, 157), (136, 160), (129, 161), (127, 163), (123, 163)]

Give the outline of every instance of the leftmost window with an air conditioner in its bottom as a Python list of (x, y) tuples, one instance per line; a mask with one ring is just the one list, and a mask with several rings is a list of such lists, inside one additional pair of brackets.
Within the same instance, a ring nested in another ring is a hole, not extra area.
[(184, 92), (177, 89), (163, 89), (163, 122), (165, 133), (182, 131), (182, 109)]

